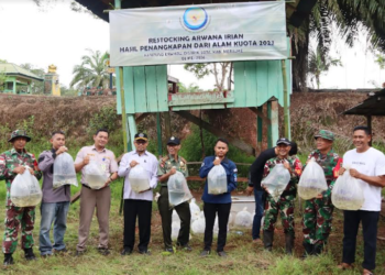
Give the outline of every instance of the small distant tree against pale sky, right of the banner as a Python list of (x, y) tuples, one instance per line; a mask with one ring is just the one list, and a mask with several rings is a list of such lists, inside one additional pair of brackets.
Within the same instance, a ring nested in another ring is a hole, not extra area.
[(321, 47), (318, 46), (316, 51), (311, 51), (309, 54), (308, 74), (311, 77), (311, 81), (316, 79), (317, 89), (319, 89), (320, 76), (322, 73), (328, 72), (331, 66), (342, 66), (340, 59), (331, 58), (329, 55), (322, 61), (321, 51)]

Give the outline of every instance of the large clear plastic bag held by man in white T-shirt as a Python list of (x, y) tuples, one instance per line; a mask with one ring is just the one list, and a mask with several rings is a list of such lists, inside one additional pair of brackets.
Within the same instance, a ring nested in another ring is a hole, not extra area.
[(365, 202), (360, 182), (352, 177), (349, 167), (336, 180), (331, 191), (331, 202), (341, 210), (359, 210)]

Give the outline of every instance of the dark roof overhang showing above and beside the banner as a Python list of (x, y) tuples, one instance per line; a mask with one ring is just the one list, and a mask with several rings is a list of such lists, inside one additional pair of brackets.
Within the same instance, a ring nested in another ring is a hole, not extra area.
[[(109, 14), (105, 10), (111, 10), (114, 0), (75, 0), (82, 4), (100, 19), (109, 22)], [(257, 0), (256, 0), (257, 1)], [(265, 0), (260, 0), (265, 1)], [(185, 4), (206, 4), (221, 2), (249, 2), (245, 0), (127, 0), (121, 1), (122, 9), (150, 8), (150, 7), (167, 7), (167, 6), (185, 6)], [(309, 15), (317, 0), (293, 0), (286, 3), (286, 15), (289, 23), (298, 28), (305, 18)]]

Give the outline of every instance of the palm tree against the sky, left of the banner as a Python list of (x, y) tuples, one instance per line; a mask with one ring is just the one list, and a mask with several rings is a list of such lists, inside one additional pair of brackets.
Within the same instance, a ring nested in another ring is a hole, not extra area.
[(110, 75), (107, 72), (107, 61), (109, 59), (109, 53), (103, 54), (100, 51), (94, 52), (87, 48), (90, 55), (84, 55), (81, 57), (81, 64), (74, 67), (73, 74), (75, 75), (69, 86), (73, 88), (75, 85), (78, 89), (86, 87), (99, 87), (107, 88), (110, 82)]

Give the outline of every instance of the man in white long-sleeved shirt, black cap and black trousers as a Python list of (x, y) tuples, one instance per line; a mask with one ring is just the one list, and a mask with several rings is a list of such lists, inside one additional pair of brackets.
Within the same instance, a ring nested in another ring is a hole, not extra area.
[[(147, 135), (138, 133), (134, 138), (135, 150), (123, 155), (118, 169), (120, 177), (124, 179), (124, 239), (122, 255), (132, 253), (135, 243), (135, 223), (139, 222), (139, 253), (150, 255), (147, 250), (151, 237), (151, 212), (153, 206), (153, 189), (157, 185), (157, 160), (146, 151)], [(129, 175), (131, 169), (141, 165), (146, 172), (150, 188), (135, 193), (131, 188)]]

